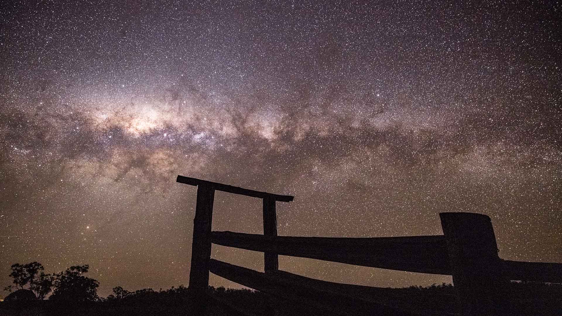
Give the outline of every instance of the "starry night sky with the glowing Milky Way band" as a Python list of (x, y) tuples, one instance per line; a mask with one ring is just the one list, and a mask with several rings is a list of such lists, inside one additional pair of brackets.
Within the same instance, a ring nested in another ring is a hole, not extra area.
[[(187, 285), (196, 188), (178, 174), (294, 195), (280, 235), (442, 234), (439, 212), (469, 211), (502, 258), (562, 262), (562, 6), (486, 3), (1, 4), (0, 286), (30, 261), (89, 264), (103, 296)], [(261, 221), (260, 199), (216, 193), (214, 230)]]

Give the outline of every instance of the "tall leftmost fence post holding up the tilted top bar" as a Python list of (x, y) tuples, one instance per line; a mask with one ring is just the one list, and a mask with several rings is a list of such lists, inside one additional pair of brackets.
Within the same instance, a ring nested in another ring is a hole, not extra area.
[(209, 260), (211, 259), (211, 223), (212, 205), (215, 189), (199, 184), (197, 186), (197, 204), (193, 219), (193, 242), (191, 247), (191, 270), (189, 271), (189, 288), (194, 295), (193, 314), (202, 315), (206, 309), (205, 292), (209, 287)]

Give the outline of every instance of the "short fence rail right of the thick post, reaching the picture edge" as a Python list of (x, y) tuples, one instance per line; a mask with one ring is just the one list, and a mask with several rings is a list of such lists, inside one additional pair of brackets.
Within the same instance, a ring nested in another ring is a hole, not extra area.
[(502, 260), (502, 270), (510, 280), (562, 283), (562, 263)]

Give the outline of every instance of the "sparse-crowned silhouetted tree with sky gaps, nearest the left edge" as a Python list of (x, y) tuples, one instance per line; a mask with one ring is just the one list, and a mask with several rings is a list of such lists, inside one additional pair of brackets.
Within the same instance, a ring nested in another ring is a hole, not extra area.
[[(29, 285), (29, 290), (33, 291), (37, 298), (42, 300), (51, 292), (53, 287), (53, 276), (45, 274), (42, 264), (37, 261), (28, 264), (12, 264), (12, 272), (10, 277), (13, 278), (13, 284), (16, 289), (24, 289)], [(4, 290), (12, 292), (14, 286), (9, 285)]]

